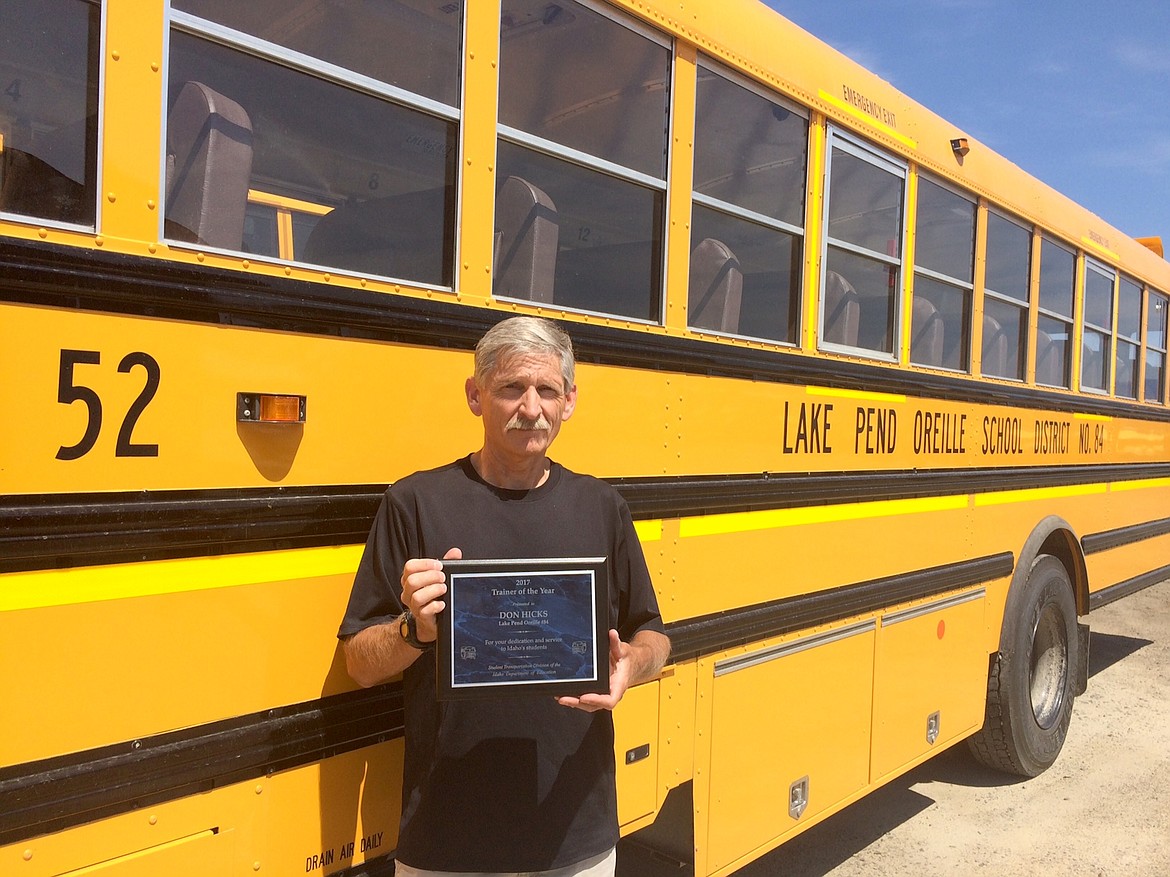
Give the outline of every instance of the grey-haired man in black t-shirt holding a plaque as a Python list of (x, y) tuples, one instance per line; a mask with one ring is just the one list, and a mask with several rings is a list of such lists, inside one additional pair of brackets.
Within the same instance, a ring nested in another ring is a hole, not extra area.
[[(659, 674), (670, 645), (625, 502), (548, 456), (577, 406), (573, 373), (571, 341), (548, 320), (488, 331), (464, 387), (483, 446), (394, 484), (366, 543), (338, 635), (359, 684), (402, 674), (399, 875), (613, 873), (610, 711)], [(608, 693), (436, 702), (442, 560), (601, 555)]]

